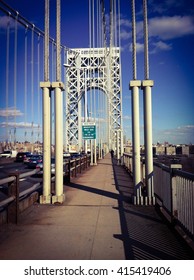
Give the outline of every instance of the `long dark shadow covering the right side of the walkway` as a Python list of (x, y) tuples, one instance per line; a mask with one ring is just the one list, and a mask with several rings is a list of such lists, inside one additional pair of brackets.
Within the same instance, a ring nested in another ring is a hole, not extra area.
[(118, 211), (125, 258), (131, 260), (194, 259), (193, 252), (173, 232), (154, 206), (132, 204), (133, 181), (129, 173), (112, 159), (116, 188), (119, 192)]

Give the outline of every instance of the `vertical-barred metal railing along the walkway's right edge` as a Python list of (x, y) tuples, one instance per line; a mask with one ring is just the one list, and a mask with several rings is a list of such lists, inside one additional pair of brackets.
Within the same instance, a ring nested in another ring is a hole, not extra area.
[[(132, 155), (124, 153), (123, 162), (133, 176)], [(154, 162), (155, 201), (168, 221), (194, 241), (194, 174), (182, 171), (181, 168), (181, 164), (166, 166)], [(142, 186), (145, 186), (144, 170), (142, 159)]]

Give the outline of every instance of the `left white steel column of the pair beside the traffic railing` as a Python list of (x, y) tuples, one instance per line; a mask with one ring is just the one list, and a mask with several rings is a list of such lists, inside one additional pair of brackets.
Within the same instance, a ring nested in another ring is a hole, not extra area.
[(51, 115), (50, 82), (41, 82), (43, 89), (43, 195), (41, 204), (51, 203)]

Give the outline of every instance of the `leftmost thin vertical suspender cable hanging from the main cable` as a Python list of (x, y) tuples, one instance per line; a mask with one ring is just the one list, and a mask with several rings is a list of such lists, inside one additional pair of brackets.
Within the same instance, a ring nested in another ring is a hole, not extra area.
[(10, 13), (7, 22), (7, 46), (6, 46), (6, 140), (8, 142), (8, 106), (9, 106), (9, 46), (10, 45)]

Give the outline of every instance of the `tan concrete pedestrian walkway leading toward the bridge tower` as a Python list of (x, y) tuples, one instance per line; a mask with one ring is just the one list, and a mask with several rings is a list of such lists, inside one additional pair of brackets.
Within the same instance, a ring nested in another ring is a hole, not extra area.
[(194, 259), (109, 155), (65, 186), (63, 205), (33, 205), (0, 230), (0, 259)]

